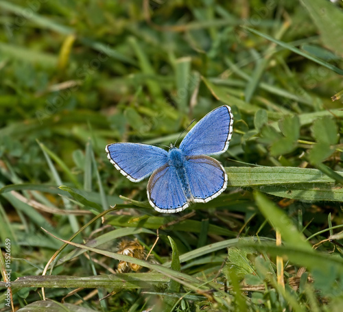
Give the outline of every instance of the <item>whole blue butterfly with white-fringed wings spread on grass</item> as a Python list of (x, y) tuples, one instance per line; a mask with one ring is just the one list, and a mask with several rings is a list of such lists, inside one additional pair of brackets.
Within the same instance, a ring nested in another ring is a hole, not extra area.
[(222, 154), (233, 134), (230, 106), (209, 112), (187, 133), (179, 147), (169, 151), (141, 143), (106, 146), (107, 158), (132, 182), (151, 176), (147, 198), (160, 213), (178, 213), (191, 203), (209, 202), (220, 195), (228, 176), (218, 160), (206, 155)]

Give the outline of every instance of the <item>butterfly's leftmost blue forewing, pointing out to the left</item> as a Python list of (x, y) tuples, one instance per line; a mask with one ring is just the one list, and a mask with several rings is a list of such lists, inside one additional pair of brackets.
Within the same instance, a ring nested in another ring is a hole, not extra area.
[(167, 162), (167, 152), (154, 145), (113, 143), (106, 146), (107, 158), (132, 182), (139, 182)]

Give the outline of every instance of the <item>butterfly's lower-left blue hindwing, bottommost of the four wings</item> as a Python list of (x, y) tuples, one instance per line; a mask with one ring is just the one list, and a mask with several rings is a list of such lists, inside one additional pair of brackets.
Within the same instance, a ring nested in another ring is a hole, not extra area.
[(189, 206), (175, 167), (158, 168), (147, 183), (147, 198), (160, 213), (178, 213)]

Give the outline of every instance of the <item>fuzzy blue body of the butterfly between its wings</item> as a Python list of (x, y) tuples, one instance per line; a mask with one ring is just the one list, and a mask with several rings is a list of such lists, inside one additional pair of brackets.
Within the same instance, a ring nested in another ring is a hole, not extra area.
[(182, 185), (182, 191), (185, 193), (187, 200), (192, 201), (193, 195), (191, 194), (191, 188), (189, 187), (189, 179), (187, 178), (185, 170), (185, 161), (187, 160), (181, 149), (172, 148), (169, 150), (168, 164), (176, 169), (176, 175)]

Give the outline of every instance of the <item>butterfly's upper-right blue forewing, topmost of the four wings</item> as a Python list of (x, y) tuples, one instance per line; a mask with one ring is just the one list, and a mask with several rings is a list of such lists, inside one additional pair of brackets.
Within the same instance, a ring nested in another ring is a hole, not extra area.
[(230, 106), (215, 108), (187, 133), (180, 149), (187, 156), (222, 154), (228, 149), (233, 134)]

